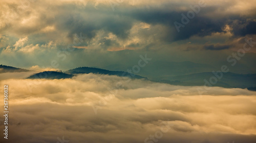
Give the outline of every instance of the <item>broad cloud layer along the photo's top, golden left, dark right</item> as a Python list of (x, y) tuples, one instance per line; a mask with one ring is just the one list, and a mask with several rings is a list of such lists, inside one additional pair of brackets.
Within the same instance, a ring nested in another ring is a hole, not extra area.
[[(145, 35), (154, 35), (155, 39), (151, 39), (152, 43), (157, 43), (159, 40), (161, 42), (174, 42), (192, 36), (204, 37), (212, 33), (224, 32), (223, 28), (226, 24), (230, 24), (235, 36), (255, 34), (253, 14), (241, 16), (237, 12), (227, 12), (227, 10), (231, 11), (233, 7), (241, 9), (241, 11), (243, 8), (243, 11), (246, 12), (251, 11), (254, 7), (246, 5), (247, 9), (245, 9), (245, 6), (241, 6), (239, 1), (221, 2), (222, 5), (206, 2), (206, 7), (201, 8), (200, 12), (193, 19), (190, 19), (185, 27), (181, 28), (180, 33), (177, 32), (174, 22), (181, 22), (181, 14), (186, 15), (191, 10), (185, 4), (194, 6), (198, 3), (197, 1), (185, 1), (183, 3), (178, 1), (161, 1), (161, 3), (148, 1), (146, 3), (134, 2), (134, 4), (123, 2), (116, 6), (119, 7), (118, 12), (113, 12), (111, 5), (106, 1), (57, 1), (51, 5), (45, 1), (34, 1), (28, 6), (24, 6), (23, 12), (18, 12), (19, 7), (23, 5), (14, 2), (2, 2), (3, 19), (11, 17), (12, 11), (16, 12), (16, 17), (11, 18), (12, 20), (8, 21), (9, 26), (4, 26), (0, 31), (8, 35), (15, 35), (18, 38), (27, 36), (34, 44), (42, 42), (37, 41), (38, 38), (45, 41), (69, 43), (73, 40), (74, 34), (82, 33), (87, 39), (82, 44), (90, 43), (93, 45), (95, 43), (91, 40), (96, 38), (100, 31), (113, 34), (126, 43), (130, 37), (134, 36), (131, 33), (132, 28), (141, 22), (151, 25), (147, 31), (140, 33), (144, 34), (143, 38), (146, 38)], [(247, 1), (247, 3), (250, 2)], [(96, 3), (97, 9), (94, 5)], [(51, 12), (40, 9), (39, 6), (48, 7)], [(15, 23), (19, 24), (16, 25)], [(155, 30), (154, 25), (158, 25), (159, 31)], [(112, 44), (106, 46), (112, 46)], [(124, 45), (121, 44), (120, 46)]]

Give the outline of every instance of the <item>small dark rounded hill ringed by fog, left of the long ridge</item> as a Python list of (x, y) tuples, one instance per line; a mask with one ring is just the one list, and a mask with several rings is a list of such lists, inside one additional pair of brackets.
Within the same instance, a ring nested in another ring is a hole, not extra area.
[(28, 77), (28, 79), (65, 79), (65, 78), (72, 78), (74, 75), (62, 73), (59, 71), (44, 71), (40, 73), (36, 73)]

